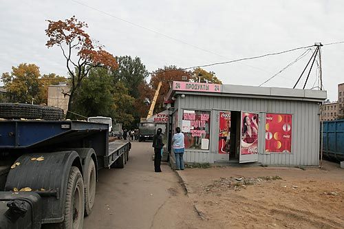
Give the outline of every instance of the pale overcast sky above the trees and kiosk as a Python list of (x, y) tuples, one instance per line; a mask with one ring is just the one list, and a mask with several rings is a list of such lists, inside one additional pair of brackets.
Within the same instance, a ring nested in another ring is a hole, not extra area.
[[(45, 20), (73, 15), (89, 25), (86, 32), (107, 52), (138, 56), (149, 72), (165, 65), (193, 67), (344, 41), (341, 0), (0, 0), (0, 6), (0, 74), (34, 63), (41, 74), (67, 76), (61, 50), (45, 46)], [(204, 69), (224, 84), (258, 86), (306, 51)], [(312, 51), (263, 86), (292, 88)], [(338, 83), (344, 83), (343, 60), (344, 43), (321, 48), (323, 87), (332, 101), (337, 100)], [(314, 64), (306, 89), (319, 86), (316, 68)]]

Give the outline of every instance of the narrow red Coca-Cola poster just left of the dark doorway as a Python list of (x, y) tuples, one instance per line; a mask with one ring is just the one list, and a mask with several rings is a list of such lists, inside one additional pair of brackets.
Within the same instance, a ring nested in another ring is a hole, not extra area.
[(219, 153), (229, 153), (230, 111), (219, 113)]

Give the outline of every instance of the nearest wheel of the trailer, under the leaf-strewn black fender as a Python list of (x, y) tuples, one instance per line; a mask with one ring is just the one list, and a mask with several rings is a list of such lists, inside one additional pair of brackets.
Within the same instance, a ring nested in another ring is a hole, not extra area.
[(65, 221), (63, 229), (82, 229), (84, 222), (84, 183), (83, 176), (77, 167), (72, 166), (69, 172), (65, 199)]

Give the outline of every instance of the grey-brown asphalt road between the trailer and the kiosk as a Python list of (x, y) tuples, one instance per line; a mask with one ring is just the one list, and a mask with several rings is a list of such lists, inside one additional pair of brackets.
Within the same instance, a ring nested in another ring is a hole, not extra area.
[(154, 173), (151, 142), (133, 142), (125, 168), (99, 171), (84, 228), (200, 228), (201, 219), (166, 163)]

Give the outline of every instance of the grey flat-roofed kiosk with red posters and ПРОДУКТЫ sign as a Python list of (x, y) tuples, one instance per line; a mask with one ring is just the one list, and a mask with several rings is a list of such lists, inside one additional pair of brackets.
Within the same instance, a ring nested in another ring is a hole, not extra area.
[(167, 98), (169, 130), (182, 129), (186, 162), (319, 164), (326, 91), (173, 82)]

